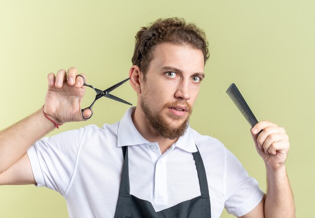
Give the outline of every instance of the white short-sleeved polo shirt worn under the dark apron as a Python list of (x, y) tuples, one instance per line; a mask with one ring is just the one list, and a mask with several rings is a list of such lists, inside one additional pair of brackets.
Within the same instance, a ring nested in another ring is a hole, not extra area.
[(264, 195), (255, 179), (217, 139), (190, 127), (164, 154), (133, 125), (131, 114), (102, 128), (89, 125), (45, 137), (28, 150), (38, 186), (64, 196), (69, 216), (114, 217), (123, 164), (129, 146), (130, 194), (150, 201), (156, 211), (200, 195), (191, 153), (200, 151), (207, 174), (211, 217), (223, 208), (235, 216), (251, 211)]

